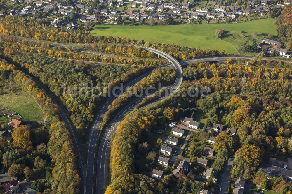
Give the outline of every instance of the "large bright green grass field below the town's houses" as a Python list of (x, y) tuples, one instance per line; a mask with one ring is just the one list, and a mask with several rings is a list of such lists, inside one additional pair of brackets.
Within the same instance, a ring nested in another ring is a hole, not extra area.
[[(241, 30), (245, 32), (245, 36), (254, 36), (254, 33), (276, 34), (274, 23), (275, 19), (267, 18), (262, 20), (253, 20), (242, 23), (232, 24), (184, 24), (174, 26), (123, 26), (123, 25), (95, 25), (91, 34), (102, 36), (113, 36), (120, 38), (128, 37), (131, 39), (145, 41), (174, 43), (187, 47), (195, 47), (202, 49), (225, 50), (229, 54), (238, 54), (234, 47), (238, 47), (239, 43), (246, 38), (241, 35)], [(220, 40), (215, 38), (216, 29), (225, 29), (228, 33)], [(230, 36), (234, 36), (235, 40)]]

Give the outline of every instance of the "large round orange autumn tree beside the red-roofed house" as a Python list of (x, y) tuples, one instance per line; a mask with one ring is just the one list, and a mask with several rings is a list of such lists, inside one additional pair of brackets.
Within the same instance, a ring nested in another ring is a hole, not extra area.
[(12, 133), (13, 147), (27, 149), (31, 144), (30, 129), (27, 125), (21, 125)]

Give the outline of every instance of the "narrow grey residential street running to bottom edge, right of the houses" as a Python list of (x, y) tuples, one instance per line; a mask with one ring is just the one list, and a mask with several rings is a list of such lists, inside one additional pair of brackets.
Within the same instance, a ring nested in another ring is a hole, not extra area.
[(223, 172), (221, 174), (221, 181), (220, 181), (220, 188), (222, 188), (222, 191), (220, 193), (227, 193), (228, 192), (230, 175), (231, 175), (231, 168), (233, 165), (233, 161), (234, 161), (234, 156), (231, 156), (224, 163), (224, 169), (223, 169)]

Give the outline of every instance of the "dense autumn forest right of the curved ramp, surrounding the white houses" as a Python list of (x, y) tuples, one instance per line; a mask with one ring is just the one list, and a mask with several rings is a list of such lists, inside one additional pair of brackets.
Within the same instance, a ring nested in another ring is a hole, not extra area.
[[(145, 152), (147, 154), (156, 149), (156, 145), (151, 143), (155, 130), (178, 119), (185, 111), (189, 112), (190, 108), (206, 113), (206, 127), (213, 123), (225, 123), (238, 128), (236, 139), (223, 133), (218, 135), (213, 146), (223, 161), (228, 154), (235, 152), (232, 177), (249, 180), (259, 176), (259, 165), (266, 160), (265, 154), (292, 154), (292, 70), (261, 67), (265, 65), (262, 60), (249, 61), (253, 64), (249, 67), (245, 65), (246, 61), (227, 62), (224, 65), (189, 65), (183, 72), (185, 81), (179, 97), (163, 100), (155, 107), (128, 115), (122, 121), (112, 142), (112, 183), (107, 188), (107, 194), (169, 192), (174, 187), (183, 188), (187, 192), (196, 191), (192, 173), (182, 175), (178, 180), (173, 179), (173, 175), (165, 175), (161, 181), (156, 182), (144, 173), (141, 174), (138, 162), (135, 162)], [(242, 89), (244, 75), (246, 84)], [(188, 97), (187, 89), (196, 84), (199, 88), (210, 87), (210, 96)], [(209, 133), (206, 135), (207, 138), (210, 136)], [(192, 153), (193, 147), (196, 148), (197, 145), (192, 144), (189, 153)], [(189, 157), (191, 161), (196, 159), (192, 154)], [(194, 165), (192, 164), (191, 172), (197, 170)], [(288, 191), (291, 187), (286, 181), (271, 181), (274, 193), (279, 193), (280, 188), (281, 191)], [(211, 185), (205, 186), (212, 188)]]

